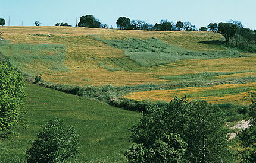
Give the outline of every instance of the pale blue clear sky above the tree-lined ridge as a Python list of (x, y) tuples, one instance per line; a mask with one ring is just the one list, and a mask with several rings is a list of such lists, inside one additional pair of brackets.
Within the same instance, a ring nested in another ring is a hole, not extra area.
[(210, 23), (241, 21), (256, 29), (256, 0), (0, 0), (0, 18), (5, 26), (54, 26), (64, 22), (72, 26), (82, 15), (93, 15), (102, 24), (117, 27), (119, 17), (143, 20), (150, 24), (161, 19), (190, 21), (197, 28)]

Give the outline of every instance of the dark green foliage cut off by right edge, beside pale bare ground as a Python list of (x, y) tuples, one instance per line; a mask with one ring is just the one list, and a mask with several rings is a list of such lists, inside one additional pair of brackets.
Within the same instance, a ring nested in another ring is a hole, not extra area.
[(239, 133), (238, 138), (242, 141), (243, 147), (251, 148), (251, 152), (247, 158), (243, 158), (245, 162), (256, 162), (256, 94), (251, 94), (252, 100), (250, 105), (249, 128), (243, 129)]

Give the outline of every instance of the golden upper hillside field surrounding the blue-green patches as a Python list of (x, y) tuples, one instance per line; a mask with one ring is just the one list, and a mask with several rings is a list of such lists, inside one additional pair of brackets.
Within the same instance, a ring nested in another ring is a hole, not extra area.
[[(26, 66), (27, 71), (36, 69), (35, 75), (42, 74), (46, 81), (58, 84), (138, 85), (150, 82), (159, 84), (168, 82), (168, 80), (160, 79), (158, 76), (246, 71), (254, 69), (256, 62), (255, 56), (206, 60), (186, 59), (158, 67), (145, 68), (126, 57), (122, 49), (114, 48), (97, 39), (135, 38), (143, 40), (155, 37), (172, 46), (192, 52), (227, 50), (218, 44), (218, 41), (222, 40), (222, 36), (211, 32), (108, 30), (76, 27), (1, 27), (1, 29), (4, 30), (3, 37), (10, 39), (14, 44), (65, 45), (67, 53), (64, 65), (71, 71), (56, 71), (56, 69), (51, 69), (51, 66), (47, 67), (39, 62)], [(99, 62), (102, 64), (98, 64)], [(122, 70), (115, 71), (116, 69)], [(252, 72), (251, 75), (256, 75), (256, 72)]]

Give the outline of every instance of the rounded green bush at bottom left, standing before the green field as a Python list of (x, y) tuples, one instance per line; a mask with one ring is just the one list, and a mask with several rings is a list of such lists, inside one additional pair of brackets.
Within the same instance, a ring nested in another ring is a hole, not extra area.
[(63, 119), (52, 119), (38, 133), (38, 139), (27, 152), (28, 162), (63, 162), (76, 157), (79, 141), (76, 130)]

